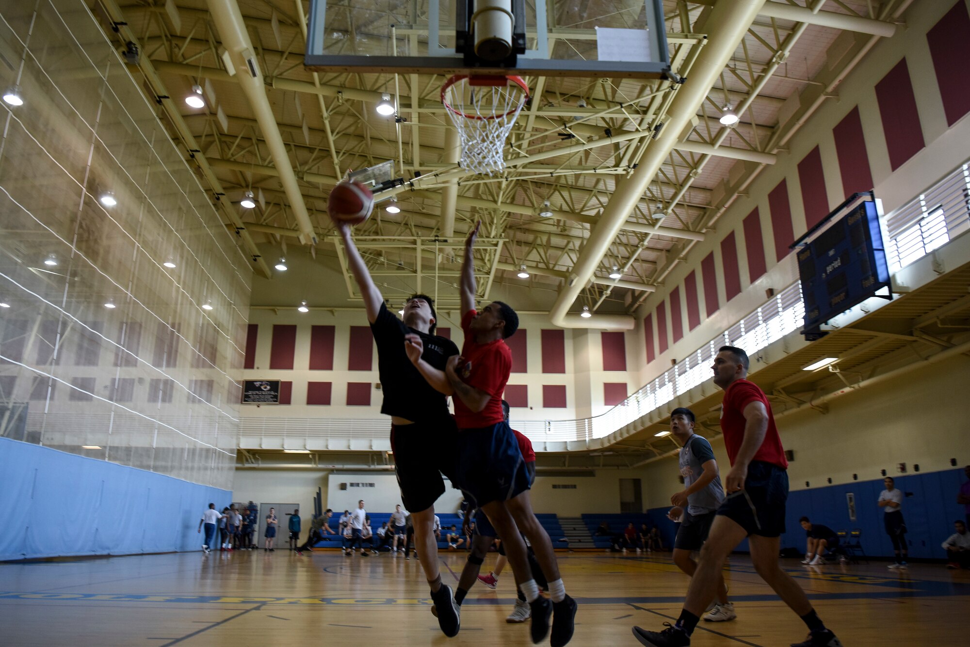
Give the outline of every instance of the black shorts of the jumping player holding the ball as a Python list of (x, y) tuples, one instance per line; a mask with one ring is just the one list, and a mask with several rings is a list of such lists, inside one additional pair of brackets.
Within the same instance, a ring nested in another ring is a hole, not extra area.
[(444, 479), (455, 482), (458, 428), (451, 416), (434, 424), (414, 422), (391, 425), (394, 472), (398, 476), (404, 508), (420, 512), (435, 505), (444, 494)]

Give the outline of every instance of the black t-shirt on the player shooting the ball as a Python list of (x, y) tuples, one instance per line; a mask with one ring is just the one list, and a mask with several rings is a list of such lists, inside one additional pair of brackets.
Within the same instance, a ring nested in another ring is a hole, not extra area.
[(454, 342), (404, 325), (384, 303), (380, 304), (380, 312), (371, 324), (371, 330), (377, 343), (377, 369), (384, 391), (380, 413), (404, 417), (412, 422), (429, 422), (450, 415), (447, 397), (429, 385), (407, 358), (404, 335), (414, 333), (421, 337), (424, 342), (421, 358), (442, 371), (448, 357), (458, 354)]

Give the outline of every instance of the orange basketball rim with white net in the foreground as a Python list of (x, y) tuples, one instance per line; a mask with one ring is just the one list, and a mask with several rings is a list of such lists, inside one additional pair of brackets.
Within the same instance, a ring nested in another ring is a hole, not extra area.
[(455, 75), (441, 87), (441, 103), (458, 130), (463, 169), (488, 173), (505, 168), (501, 151), (529, 99), (521, 77)]

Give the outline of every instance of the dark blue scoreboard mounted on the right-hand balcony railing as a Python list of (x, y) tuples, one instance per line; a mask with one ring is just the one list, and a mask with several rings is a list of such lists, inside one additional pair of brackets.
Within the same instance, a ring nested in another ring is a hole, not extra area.
[(824, 336), (823, 323), (889, 288), (889, 264), (872, 193), (855, 194), (843, 202), (792, 248), (805, 303), (801, 333), (808, 340)]

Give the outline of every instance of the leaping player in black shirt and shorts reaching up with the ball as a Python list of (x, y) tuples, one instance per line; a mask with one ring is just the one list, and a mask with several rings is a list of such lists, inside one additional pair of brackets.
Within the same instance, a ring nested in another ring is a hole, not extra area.
[(364, 296), (377, 344), (377, 368), (384, 392), (380, 413), (391, 416), (395, 472), (404, 508), (410, 510), (414, 523), (415, 549), (431, 585), (438, 625), (445, 635), (453, 636), (460, 625), (458, 606), (451, 587), (441, 583), (434, 526), (435, 502), (444, 493), (441, 473), (452, 482), (455, 480), (454, 443), (458, 428), (448, 411), (447, 397), (418, 372), (407, 357), (407, 348), (420, 353), (423, 361), (443, 375), (448, 357), (459, 354), (458, 347), (435, 334), (435, 305), (424, 294), (407, 299), (404, 322), (391, 314), (350, 237), (350, 227), (338, 220), (334, 220), (334, 226), (343, 238), (347, 262)]

